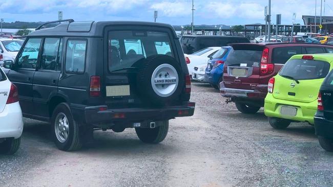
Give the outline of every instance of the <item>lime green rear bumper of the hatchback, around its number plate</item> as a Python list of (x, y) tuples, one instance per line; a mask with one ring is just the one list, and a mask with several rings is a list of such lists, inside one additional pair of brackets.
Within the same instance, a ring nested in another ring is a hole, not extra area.
[[(311, 103), (295, 102), (276, 99), (271, 93), (268, 93), (265, 98), (264, 111), (265, 115), (268, 117), (283, 118), (298, 122), (308, 122), (309, 124), (314, 124), (314, 115), (317, 111), (317, 100)], [(282, 115), (280, 113), (282, 106), (293, 106), (297, 108), (297, 113), (295, 116), (292, 115)]]

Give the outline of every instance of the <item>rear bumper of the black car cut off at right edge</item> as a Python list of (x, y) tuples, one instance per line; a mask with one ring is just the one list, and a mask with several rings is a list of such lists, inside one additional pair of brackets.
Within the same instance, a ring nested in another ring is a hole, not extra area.
[(325, 119), (322, 111), (317, 111), (314, 121), (316, 135), (333, 138), (333, 121)]

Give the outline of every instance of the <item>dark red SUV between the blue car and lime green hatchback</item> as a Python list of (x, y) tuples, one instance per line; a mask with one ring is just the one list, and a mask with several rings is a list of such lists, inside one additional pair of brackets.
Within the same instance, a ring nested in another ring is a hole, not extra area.
[(333, 46), (311, 43), (230, 44), (220, 93), (242, 113), (256, 113), (264, 106), (268, 80), (293, 55), (333, 53)]

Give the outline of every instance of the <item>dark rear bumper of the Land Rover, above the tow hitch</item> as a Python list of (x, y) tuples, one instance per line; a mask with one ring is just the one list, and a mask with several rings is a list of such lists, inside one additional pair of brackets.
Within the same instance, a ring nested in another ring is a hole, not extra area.
[[(195, 103), (184, 102), (180, 106), (163, 108), (120, 108), (100, 110), (107, 106), (85, 108), (85, 121), (93, 125), (133, 124), (147, 121), (170, 120), (180, 116), (192, 116)], [(129, 126), (131, 127), (131, 125)]]

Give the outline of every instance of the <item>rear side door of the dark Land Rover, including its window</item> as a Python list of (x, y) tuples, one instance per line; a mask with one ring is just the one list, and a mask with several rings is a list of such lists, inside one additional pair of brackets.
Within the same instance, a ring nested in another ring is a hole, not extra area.
[(40, 53), (40, 61), (32, 82), (33, 107), (36, 115), (49, 118), (48, 101), (58, 91), (63, 39), (45, 38)]

